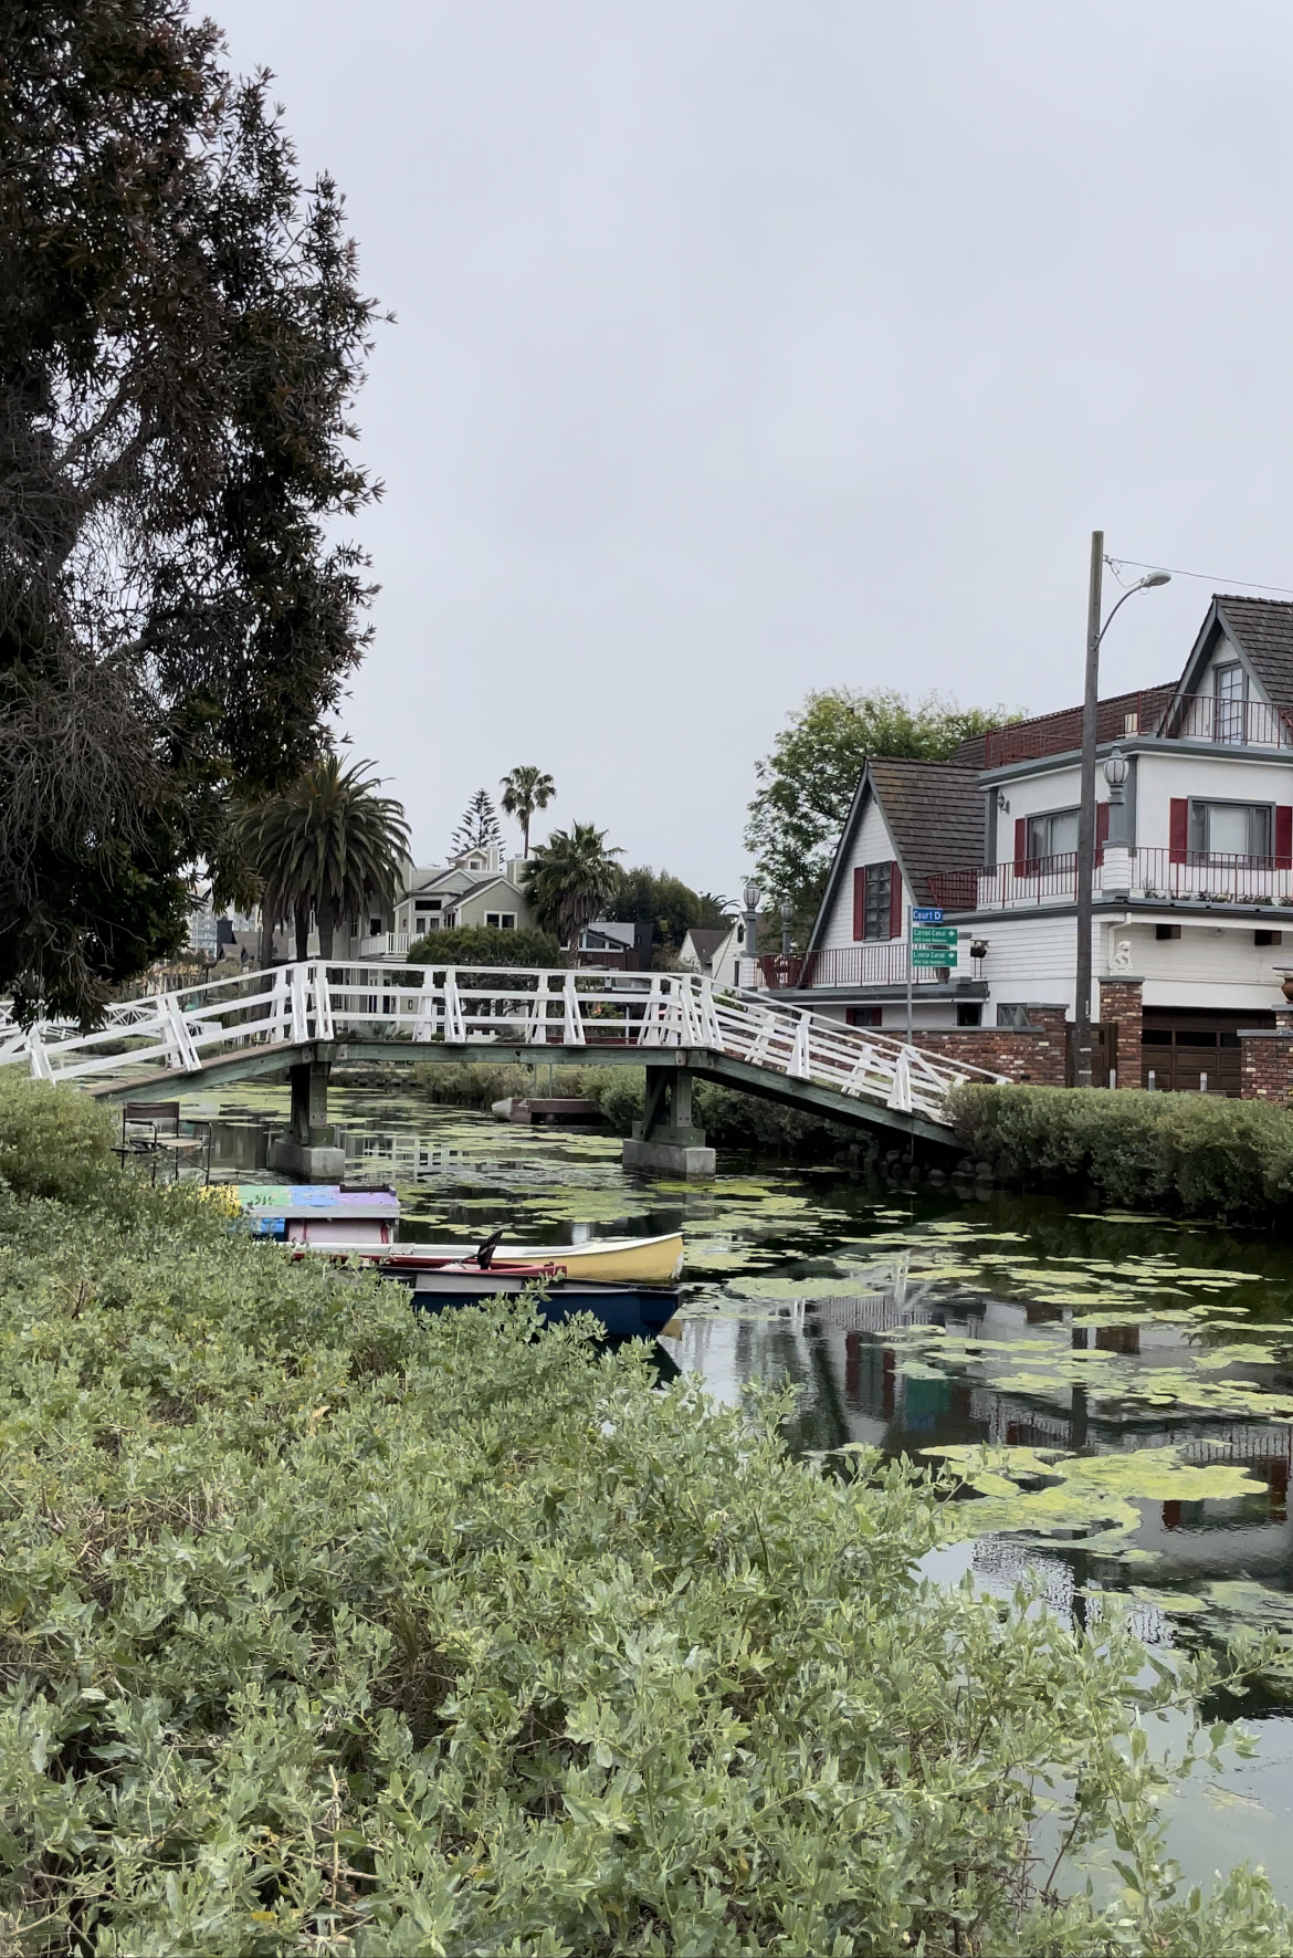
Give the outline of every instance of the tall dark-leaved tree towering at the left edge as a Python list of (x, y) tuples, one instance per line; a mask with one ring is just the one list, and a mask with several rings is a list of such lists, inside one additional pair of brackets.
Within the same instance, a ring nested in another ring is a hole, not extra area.
[(231, 785), (319, 750), (374, 305), (268, 76), (180, 0), (0, 8), (0, 987), (92, 1022), (170, 954)]

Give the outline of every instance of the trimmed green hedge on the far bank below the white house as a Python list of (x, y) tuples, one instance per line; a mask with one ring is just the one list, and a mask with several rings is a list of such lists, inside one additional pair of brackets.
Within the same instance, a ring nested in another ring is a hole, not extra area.
[(1293, 1196), (1293, 1114), (1268, 1102), (1107, 1089), (957, 1089), (957, 1140), (1031, 1189), (1273, 1220)]

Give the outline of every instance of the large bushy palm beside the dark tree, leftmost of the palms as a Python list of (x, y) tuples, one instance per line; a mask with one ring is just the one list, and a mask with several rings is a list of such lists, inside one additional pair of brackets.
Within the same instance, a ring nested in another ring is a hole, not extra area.
[(297, 957), (305, 957), (309, 914), (319, 926), (319, 957), (333, 957), (336, 920), (372, 899), (389, 905), (409, 854), (403, 805), (374, 795), (370, 762), (342, 769), (325, 754), (290, 789), (248, 809), (243, 848), (264, 883), (272, 918), (295, 920)]

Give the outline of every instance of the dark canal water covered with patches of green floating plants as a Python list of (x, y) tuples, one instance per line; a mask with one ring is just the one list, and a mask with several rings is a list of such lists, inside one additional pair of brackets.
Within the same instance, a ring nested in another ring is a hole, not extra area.
[[(720, 1155), (714, 1183), (626, 1175), (602, 1134), (516, 1128), (415, 1095), (334, 1091), (348, 1181), (399, 1189), (401, 1235), (569, 1243), (681, 1228), (663, 1363), (736, 1400), (792, 1384), (800, 1453), (874, 1445), (966, 1478), (931, 1574), (1041, 1582), (1064, 1617), (1150, 1645), (1293, 1637), (1293, 1245), (1037, 1196), (878, 1192), (837, 1167)], [(186, 1110), (213, 1175), (264, 1175), (280, 1087)], [(1174, 1797), (1187, 1876), (1266, 1866), (1293, 1905), (1293, 1713)]]

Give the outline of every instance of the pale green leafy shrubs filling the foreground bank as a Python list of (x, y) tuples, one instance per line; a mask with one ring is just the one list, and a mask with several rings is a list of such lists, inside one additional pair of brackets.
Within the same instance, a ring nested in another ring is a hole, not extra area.
[[(1285, 1952), (1172, 1895), (1140, 1647), (921, 1588), (929, 1488), (775, 1414), (184, 1189), (2, 1204), (4, 1948)], [(1033, 1888), (1047, 1762), (1107, 1913)]]

